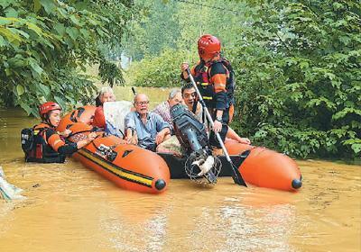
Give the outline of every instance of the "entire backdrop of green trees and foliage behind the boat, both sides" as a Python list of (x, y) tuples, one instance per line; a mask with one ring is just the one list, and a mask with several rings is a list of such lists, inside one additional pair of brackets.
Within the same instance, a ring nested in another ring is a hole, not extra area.
[[(2, 1), (0, 100), (87, 103), (83, 73), (128, 85), (180, 86), (199, 35), (222, 41), (236, 71), (232, 127), (295, 157), (361, 153), (361, 4), (357, 1)], [(87, 95), (88, 94), (88, 95)]]

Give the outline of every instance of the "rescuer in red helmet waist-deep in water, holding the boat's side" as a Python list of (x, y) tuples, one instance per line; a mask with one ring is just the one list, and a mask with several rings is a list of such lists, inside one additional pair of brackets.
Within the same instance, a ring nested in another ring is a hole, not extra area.
[(97, 137), (95, 132), (88, 134), (87, 139), (67, 144), (71, 130), (59, 133), (55, 129), (60, 122), (61, 107), (58, 103), (47, 102), (39, 107), (42, 122), (30, 129), (22, 130), (22, 148), (25, 162), (64, 163), (66, 155), (71, 155)]

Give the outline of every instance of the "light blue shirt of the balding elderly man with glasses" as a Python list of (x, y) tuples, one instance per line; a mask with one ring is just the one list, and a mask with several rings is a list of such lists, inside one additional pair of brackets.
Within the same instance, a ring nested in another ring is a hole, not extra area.
[(129, 112), (125, 116), (125, 130), (132, 129), (138, 136), (138, 146), (155, 150), (155, 136), (161, 130), (171, 126), (155, 112), (148, 112), (145, 124), (141, 120), (138, 112)]

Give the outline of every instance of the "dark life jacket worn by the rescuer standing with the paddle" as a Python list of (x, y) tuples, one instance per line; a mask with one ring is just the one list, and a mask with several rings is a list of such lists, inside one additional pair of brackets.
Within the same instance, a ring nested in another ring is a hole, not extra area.
[(219, 58), (218, 60), (213, 60), (205, 63), (200, 61), (199, 65), (194, 68), (195, 76), (194, 80), (197, 85), (200, 86), (199, 92), (202, 94), (202, 97), (208, 107), (215, 107), (215, 89), (213, 83), (211, 83), (211, 68), (216, 63), (222, 63), (222, 66), (226, 69), (227, 83), (226, 83), (226, 93), (227, 93), (227, 108), (231, 104), (235, 103), (235, 89), (236, 89), (236, 76), (235, 72), (226, 58)]

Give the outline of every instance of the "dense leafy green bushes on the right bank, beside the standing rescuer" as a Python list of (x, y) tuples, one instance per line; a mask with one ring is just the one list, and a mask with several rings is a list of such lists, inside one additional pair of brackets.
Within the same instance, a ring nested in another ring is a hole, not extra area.
[(354, 1), (260, 4), (233, 50), (237, 128), (299, 157), (355, 157), (361, 151), (359, 14)]

